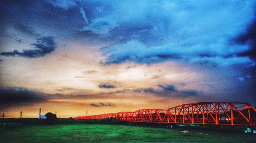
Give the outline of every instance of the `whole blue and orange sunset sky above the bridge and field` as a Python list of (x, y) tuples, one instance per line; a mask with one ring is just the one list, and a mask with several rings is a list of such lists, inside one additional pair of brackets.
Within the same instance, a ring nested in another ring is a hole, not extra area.
[(256, 106), (256, 1), (1, 1), (0, 115)]

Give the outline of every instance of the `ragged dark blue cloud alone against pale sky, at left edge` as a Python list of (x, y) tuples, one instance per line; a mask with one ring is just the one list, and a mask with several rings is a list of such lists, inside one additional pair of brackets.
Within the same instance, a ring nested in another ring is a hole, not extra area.
[(34, 46), (34, 49), (25, 49), (22, 52), (14, 50), (12, 52), (2, 52), (1, 55), (5, 56), (22, 56), (25, 58), (40, 58), (49, 54), (55, 50), (56, 43), (53, 40), (53, 37), (41, 37), (36, 40), (36, 43), (31, 44)]

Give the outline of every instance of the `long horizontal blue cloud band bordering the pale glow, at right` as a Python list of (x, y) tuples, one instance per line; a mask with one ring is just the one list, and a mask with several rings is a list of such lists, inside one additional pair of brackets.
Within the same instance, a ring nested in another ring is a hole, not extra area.
[[(254, 64), (248, 56), (236, 56), (241, 49), (247, 47), (233, 46), (231, 49), (222, 47), (216, 50), (216, 45), (205, 48), (207, 45), (195, 45), (187, 47), (154, 46), (146, 47), (137, 40), (131, 40), (122, 45), (101, 48), (102, 55), (106, 59), (103, 64), (121, 64), (135, 62), (139, 64), (154, 64), (165, 61), (190, 62), (192, 64), (211, 64), (218, 66), (230, 66), (235, 64)], [(215, 50), (214, 50), (215, 49)], [(230, 50), (230, 51), (229, 51)], [(246, 50), (246, 49), (245, 49)]]

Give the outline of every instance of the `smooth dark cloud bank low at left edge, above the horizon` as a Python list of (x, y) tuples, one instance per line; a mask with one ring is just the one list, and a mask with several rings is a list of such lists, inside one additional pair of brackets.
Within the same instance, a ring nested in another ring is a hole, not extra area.
[(0, 109), (16, 105), (38, 103), (46, 100), (46, 94), (27, 88), (0, 88)]

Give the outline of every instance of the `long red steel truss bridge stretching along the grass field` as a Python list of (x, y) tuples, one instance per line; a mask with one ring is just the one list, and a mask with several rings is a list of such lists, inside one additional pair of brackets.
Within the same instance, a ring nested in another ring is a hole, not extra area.
[(108, 119), (123, 122), (148, 122), (202, 125), (256, 125), (256, 109), (249, 103), (198, 102), (175, 106), (169, 109), (140, 109), (101, 115), (75, 117), (73, 119)]

